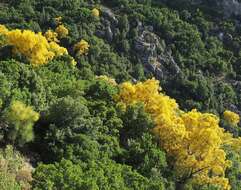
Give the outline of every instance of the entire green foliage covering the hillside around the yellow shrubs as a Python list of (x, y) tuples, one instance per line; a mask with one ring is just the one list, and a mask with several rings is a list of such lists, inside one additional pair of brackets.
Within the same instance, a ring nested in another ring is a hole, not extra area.
[[(34, 172), (33, 189), (179, 188), (168, 163), (171, 158), (166, 158), (150, 132), (154, 124), (143, 105), (125, 110), (116, 106), (113, 97), (118, 87), (96, 76), (106, 75), (117, 83), (142, 81), (156, 74), (142, 58), (160, 55), (158, 71), (164, 74), (160, 84), (180, 107), (220, 115), (226, 109), (240, 110), (241, 32), (237, 17), (224, 19), (217, 1), (192, 2), (1, 1), (0, 24), (9, 29), (44, 33), (58, 26), (56, 17), (62, 17), (69, 29), (60, 45), (70, 55), (39, 68), (13, 54), (11, 46), (2, 47), (6, 39), (0, 35), (0, 146), (15, 144), (33, 153), (33, 162), (43, 162)], [(92, 15), (93, 8), (100, 10), (98, 18)], [(143, 54), (137, 50), (143, 31), (158, 38), (154, 53), (152, 46)], [(90, 45), (88, 55), (74, 52), (74, 44), (81, 39)], [(179, 73), (165, 73), (173, 64), (167, 54), (180, 68)], [(71, 56), (77, 62), (75, 67), (70, 64)], [(16, 101), (22, 102), (21, 113), (12, 109)], [(40, 113), (38, 121), (35, 112)], [(23, 113), (26, 117), (22, 119)], [(221, 125), (235, 137), (241, 135), (240, 126), (230, 126), (223, 119)], [(226, 177), (234, 190), (241, 188), (239, 154), (227, 149), (233, 166)], [(0, 171), (0, 187), (20, 190), (12, 171)], [(184, 188), (217, 190), (210, 185), (186, 184)]]

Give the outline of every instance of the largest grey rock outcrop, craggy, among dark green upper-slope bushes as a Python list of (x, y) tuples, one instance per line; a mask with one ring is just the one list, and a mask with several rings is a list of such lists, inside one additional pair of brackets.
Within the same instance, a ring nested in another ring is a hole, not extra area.
[[(165, 79), (180, 73), (171, 51), (165, 42), (152, 32), (152, 27), (143, 27), (138, 23), (138, 37), (135, 39), (135, 51), (140, 57), (146, 72), (151, 72), (157, 79)], [(149, 30), (148, 30), (149, 29)]]

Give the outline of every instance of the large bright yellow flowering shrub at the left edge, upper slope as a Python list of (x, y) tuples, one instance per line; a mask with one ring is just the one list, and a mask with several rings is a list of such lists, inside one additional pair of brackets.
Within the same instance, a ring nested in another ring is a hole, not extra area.
[[(14, 53), (24, 55), (33, 66), (46, 64), (55, 56), (68, 54), (67, 50), (59, 46), (54, 41), (48, 42), (47, 38), (42, 33), (35, 33), (30, 30), (6, 30), (1, 27), (0, 34), (6, 38), (6, 44), (13, 46)], [(55, 39), (51, 32), (47, 32), (47, 36)], [(51, 36), (52, 35), (52, 36)], [(56, 39), (55, 39), (56, 40)]]

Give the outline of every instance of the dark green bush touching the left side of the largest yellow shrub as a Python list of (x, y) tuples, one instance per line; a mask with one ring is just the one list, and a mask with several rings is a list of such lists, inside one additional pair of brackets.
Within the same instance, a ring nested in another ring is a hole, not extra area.
[(160, 175), (167, 166), (165, 153), (150, 134), (154, 123), (144, 112), (143, 105), (128, 107), (122, 115), (124, 127), (120, 131), (120, 143), (124, 148), (122, 162), (133, 166), (144, 176)]

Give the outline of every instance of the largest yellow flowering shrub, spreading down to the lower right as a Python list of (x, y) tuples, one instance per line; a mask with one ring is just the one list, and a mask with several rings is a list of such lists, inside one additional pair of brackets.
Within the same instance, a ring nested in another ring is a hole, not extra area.
[[(225, 170), (230, 166), (223, 145), (237, 144), (219, 126), (219, 118), (197, 110), (184, 112), (174, 99), (159, 92), (159, 81), (151, 79), (135, 85), (125, 82), (115, 99), (123, 105), (142, 102), (156, 126), (153, 133), (168, 157), (175, 158), (173, 166), (178, 179), (198, 184), (215, 184), (230, 189)], [(189, 176), (189, 177), (187, 177)]]

